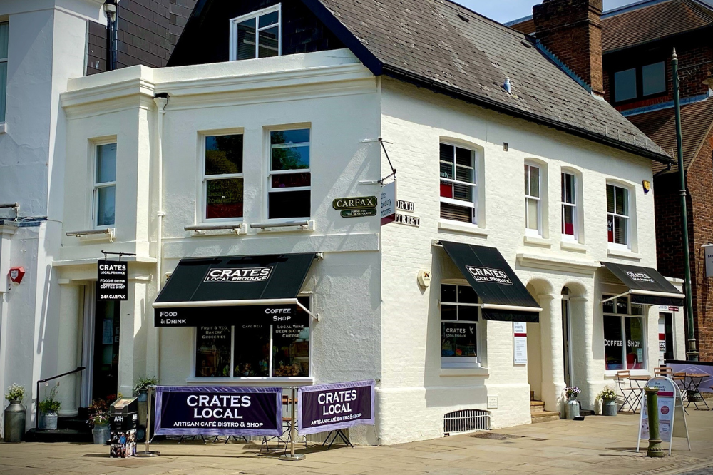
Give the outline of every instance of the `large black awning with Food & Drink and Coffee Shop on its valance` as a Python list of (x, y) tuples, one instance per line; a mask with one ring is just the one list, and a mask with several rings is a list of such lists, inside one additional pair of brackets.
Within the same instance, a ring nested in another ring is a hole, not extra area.
[(291, 322), (316, 254), (182, 259), (153, 303), (156, 327)]

